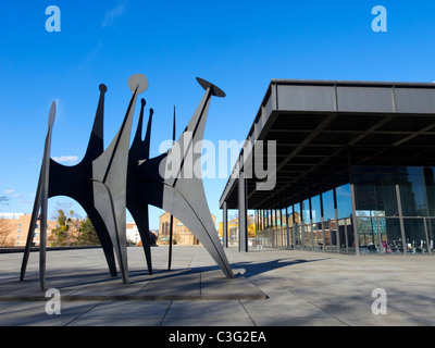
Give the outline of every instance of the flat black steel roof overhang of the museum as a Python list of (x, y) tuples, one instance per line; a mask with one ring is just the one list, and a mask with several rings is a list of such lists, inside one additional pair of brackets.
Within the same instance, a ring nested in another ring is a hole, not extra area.
[[(258, 190), (259, 179), (247, 179), (248, 209), (286, 208), (347, 184), (349, 165), (434, 166), (435, 84), (273, 79), (246, 141), (258, 140), (276, 141), (276, 186)], [(244, 152), (233, 175), (252, 164)], [(229, 178), (221, 208), (238, 208), (237, 187)]]

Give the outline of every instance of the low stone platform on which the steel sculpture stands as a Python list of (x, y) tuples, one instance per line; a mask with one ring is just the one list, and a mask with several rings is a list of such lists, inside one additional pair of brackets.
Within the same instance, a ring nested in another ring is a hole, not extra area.
[[(137, 254), (138, 248), (130, 250)], [(99, 252), (100, 250), (98, 250)], [(47, 288), (55, 288), (65, 301), (109, 301), (109, 300), (196, 300), (196, 299), (265, 299), (265, 294), (235, 272), (235, 278), (226, 278), (216, 266), (199, 266), (156, 270), (149, 275), (146, 270), (133, 268), (129, 271), (129, 284), (124, 284), (120, 276), (111, 277), (99, 268), (87, 269), (83, 263), (83, 252), (51, 251), (50, 262), (54, 269), (47, 270)], [(50, 252), (49, 252), (50, 253)], [(76, 259), (74, 259), (74, 253)], [(136, 256), (135, 254), (135, 256)], [(35, 253), (32, 254), (35, 257)], [(65, 258), (64, 258), (65, 256)], [(3, 254), (4, 258), (4, 254)], [(15, 256), (15, 259), (16, 256)], [(65, 261), (66, 260), (66, 261)], [(186, 259), (185, 261), (191, 261)], [(99, 264), (103, 265), (103, 260)], [(179, 266), (186, 264), (178, 262)], [(141, 268), (145, 266), (145, 261)], [(37, 270), (27, 271), (23, 282), (18, 273), (1, 278), (0, 301), (47, 301), (40, 289)]]

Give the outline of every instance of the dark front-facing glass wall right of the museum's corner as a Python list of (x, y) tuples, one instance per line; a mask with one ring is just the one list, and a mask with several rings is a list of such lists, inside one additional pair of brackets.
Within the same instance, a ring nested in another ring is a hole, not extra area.
[(355, 167), (352, 175), (360, 246), (394, 253), (433, 249), (433, 167)]

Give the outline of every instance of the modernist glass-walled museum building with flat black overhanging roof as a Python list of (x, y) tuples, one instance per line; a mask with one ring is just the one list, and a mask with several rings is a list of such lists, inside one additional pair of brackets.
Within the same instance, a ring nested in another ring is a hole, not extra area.
[(254, 210), (257, 246), (434, 252), (435, 84), (272, 79), (246, 145), (220, 201), (240, 251)]

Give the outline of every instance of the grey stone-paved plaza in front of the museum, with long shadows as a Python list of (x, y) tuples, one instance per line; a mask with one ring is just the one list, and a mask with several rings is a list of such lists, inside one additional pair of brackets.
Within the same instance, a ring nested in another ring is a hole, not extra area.
[[(52, 315), (39, 288), (39, 253), (32, 252), (24, 282), (23, 254), (0, 253), (0, 325), (435, 325), (434, 256), (225, 250), (234, 279), (202, 247), (175, 246), (171, 271), (169, 248), (152, 248), (152, 275), (142, 249), (128, 248), (128, 285), (110, 276), (101, 249), (49, 251), (47, 288), (61, 295), (61, 313)], [(372, 311), (374, 289), (385, 290), (386, 314)]]

